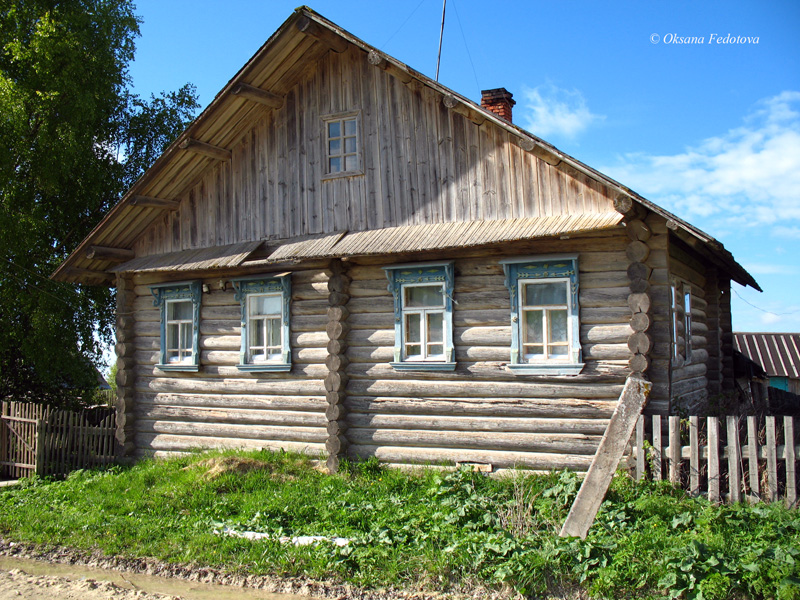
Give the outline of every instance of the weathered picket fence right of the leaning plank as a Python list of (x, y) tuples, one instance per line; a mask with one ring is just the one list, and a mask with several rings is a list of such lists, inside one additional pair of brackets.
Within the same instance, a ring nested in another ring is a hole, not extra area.
[(795, 417), (639, 417), (636, 479), (668, 479), (712, 502), (797, 506), (797, 433)]

